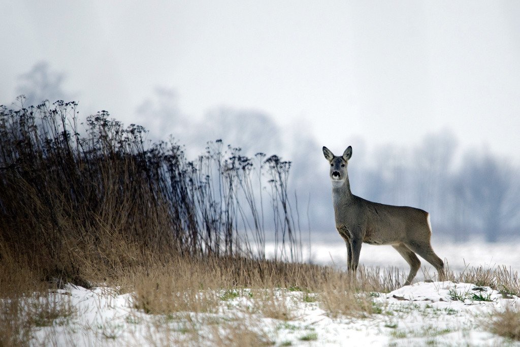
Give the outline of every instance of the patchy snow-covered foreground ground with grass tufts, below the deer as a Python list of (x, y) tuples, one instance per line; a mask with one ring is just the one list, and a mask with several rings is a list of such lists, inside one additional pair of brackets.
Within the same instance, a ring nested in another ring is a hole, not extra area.
[(361, 319), (331, 318), (319, 300), (309, 300), (309, 294), (300, 291), (274, 291), (292, 313), (287, 320), (256, 311), (258, 293), (248, 289), (216, 294), (213, 313), (150, 315), (134, 308), (129, 293), (69, 286), (49, 295), (67, 302), (75, 313), (37, 328), (32, 344), (212, 346), (227, 345), (228, 336), (253, 333), (277, 346), (520, 345), (486, 329), (490, 314), (518, 307), (520, 298), (504, 298), (472, 284), (418, 282), (387, 294), (371, 293), (378, 313)]

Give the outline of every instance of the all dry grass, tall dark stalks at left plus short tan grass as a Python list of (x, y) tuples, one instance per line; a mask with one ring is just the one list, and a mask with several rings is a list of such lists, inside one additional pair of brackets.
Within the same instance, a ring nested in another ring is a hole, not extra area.
[[(34, 329), (67, 324), (73, 307), (49, 294), (66, 283), (117, 287), (133, 293), (141, 312), (183, 317), (186, 337), (177, 340), (165, 328), (166, 344), (197, 344), (199, 323), (187, 313), (199, 319), (216, 312), (223, 291), (250, 289), (252, 310), (274, 319), (296, 318), (284, 289), (306, 293), (302, 300), (316, 300), (331, 317), (363, 317), (378, 312), (370, 292), (402, 283), (397, 269), (360, 267), (352, 279), (287, 256), (266, 260), (262, 247), (251, 251), (264, 245), (263, 221), (269, 219), (287, 230), (287, 239), (278, 241), (288, 253), (298, 253), (291, 248), (297, 238), (288, 212), (290, 163), (245, 158), (233, 148), (223, 152), (222, 142), (197, 161), (188, 161), (176, 144), (145, 149), (142, 127), (124, 128), (105, 111), (87, 120), (83, 138), (75, 108), (63, 102), (0, 107), (0, 346), (27, 345)], [(253, 175), (267, 182), (257, 187)], [(273, 205), (263, 216), (254, 191), (266, 186)], [(520, 294), (518, 274), (505, 267), (447, 273), (454, 281)], [(209, 339), (216, 345), (271, 343), (259, 331), (227, 322), (215, 325)]]

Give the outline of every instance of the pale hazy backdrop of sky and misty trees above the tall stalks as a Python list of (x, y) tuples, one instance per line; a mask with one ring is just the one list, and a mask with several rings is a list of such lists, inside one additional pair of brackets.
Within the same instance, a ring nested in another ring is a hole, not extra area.
[(106, 109), (151, 140), (173, 135), (190, 158), (219, 138), (248, 156), (276, 153), (293, 162), (302, 224), (326, 233), (321, 146), (352, 145), (355, 194), (430, 211), (434, 232), (461, 240), (484, 228), (518, 235), (520, 3), (3, 9), (6, 105), (73, 98), (83, 115)]

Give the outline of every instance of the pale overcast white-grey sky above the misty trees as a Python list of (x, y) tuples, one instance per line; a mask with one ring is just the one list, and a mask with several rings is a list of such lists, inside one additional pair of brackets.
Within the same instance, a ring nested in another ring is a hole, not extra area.
[(518, 1), (0, 4), (3, 103), (45, 61), (82, 112), (127, 124), (157, 123), (138, 109), (160, 87), (185, 119), (263, 112), (334, 152), (449, 129), (462, 148), (520, 158)]

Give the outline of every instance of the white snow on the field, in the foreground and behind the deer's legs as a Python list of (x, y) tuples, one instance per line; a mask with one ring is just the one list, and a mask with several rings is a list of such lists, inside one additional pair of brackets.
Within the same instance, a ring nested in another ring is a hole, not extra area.
[[(518, 271), (518, 246), (518, 242), (445, 244), (441, 240), (433, 244), (437, 254), (448, 259), (455, 271), (462, 271), (468, 265), (491, 268), (507, 265)], [(308, 259), (308, 254), (304, 250), (304, 258)], [(313, 245), (311, 260), (344, 267), (345, 246), (343, 243)], [(361, 264), (390, 265), (408, 273), (408, 265), (390, 246), (363, 245)], [(369, 293), (375, 313), (358, 318), (331, 315), (323, 306), (320, 293), (298, 288), (213, 291), (209, 295), (215, 303), (211, 310), (147, 314), (135, 308), (132, 293), (114, 288), (67, 286), (49, 293), (47, 302), (57, 311), (68, 313), (37, 327), (31, 344), (520, 346), (520, 341), (507, 340), (489, 331), (490, 322), (498, 312), (520, 309), (520, 298), (475, 284), (424, 282), (421, 277), (419, 273), (412, 286), (389, 293)], [(266, 299), (269, 295), (271, 299)], [(207, 292), (203, 296), (207, 297)], [(284, 307), (287, 314), (283, 317), (266, 314), (263, 305), (268, 302)]]

